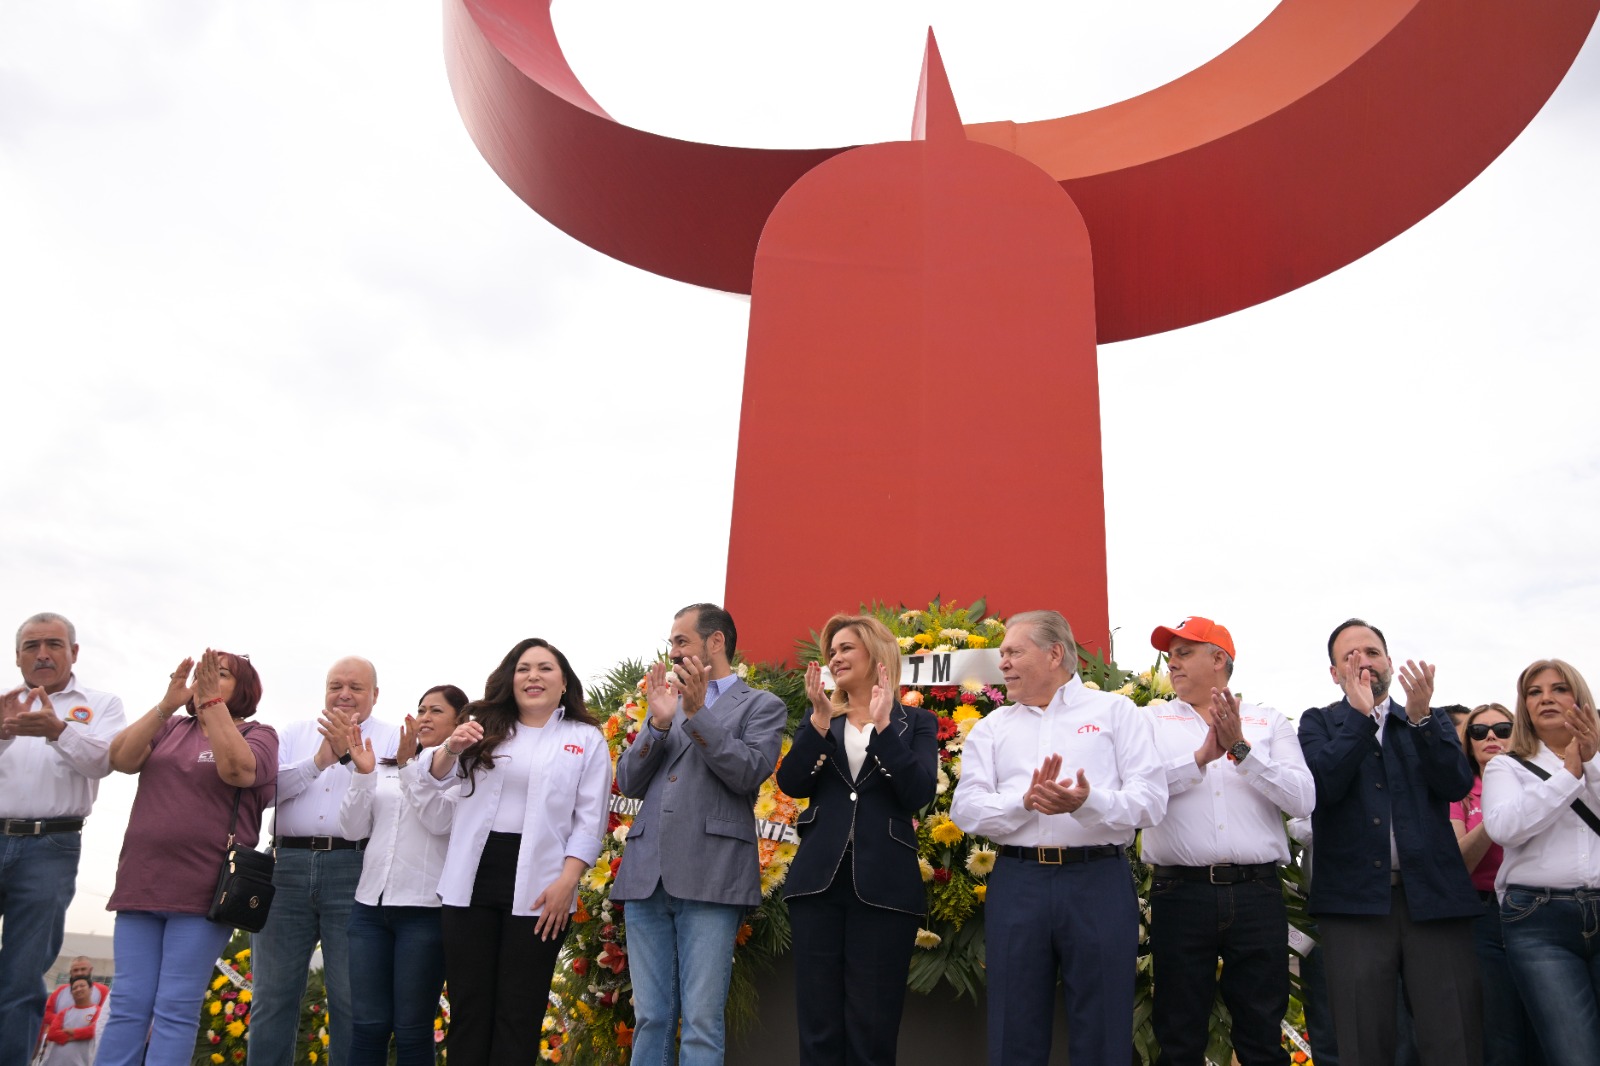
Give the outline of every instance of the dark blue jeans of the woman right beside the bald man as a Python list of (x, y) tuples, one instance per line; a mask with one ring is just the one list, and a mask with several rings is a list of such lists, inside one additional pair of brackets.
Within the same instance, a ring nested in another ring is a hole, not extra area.
[(438, 908), (350, 909), (350, 1061), (384, 1066), (389, 1036), (397, 1066), (434, 1066), (434, 1016), (445, 986)]

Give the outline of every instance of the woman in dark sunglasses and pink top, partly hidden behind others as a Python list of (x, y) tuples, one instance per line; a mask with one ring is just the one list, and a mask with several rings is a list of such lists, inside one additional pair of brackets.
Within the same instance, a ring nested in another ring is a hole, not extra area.
[(1456, 828), (1461, 858), (1472, 874), (1472, 887), (1483, 900), (1483, 914), (1474, 924), (1472, 935), (1483, 973), (1483, 1002), (1496, 1018), (1494, 1024), (1483, 1026), (1483, 1066), (1533, 1066), (1544, 1061), (1506, 964), (1499, 900), (1494, 896), (1494, 874), (1499, 872), (1502, 855), (1483, 826), (1483, 767), (1510, 747), (1510, 733), (1512, 714), (1498, 703), (1480, 704), (1461, 720), (1458, 735), (1467, 762), (1472, 763), (1474, 781), (1472, 791), (1450, 805), (1450, 824)]

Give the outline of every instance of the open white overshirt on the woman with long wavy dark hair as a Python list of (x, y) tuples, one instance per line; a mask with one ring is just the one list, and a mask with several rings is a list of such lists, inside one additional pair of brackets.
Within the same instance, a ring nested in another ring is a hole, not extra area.
[[(546, 722), (544, 730), (549, 736), (542, 738), (539, 762), (531, 768), (522, 844), (517, 848), (512, 914), (522, 916), (542, 911), (534, 911), (533, 901), (562, 876), (566, 856), (582, 860), (586, 866), (594, 866), (600, 858), (611, 799), (611, 752), (600, 730), (568, 722), (560, 711)], [(443, 781), (437, 781), (432, 773), (426, 779), (438, 789), (461, 794), (445, 852), (445, 871), (438, 879), (438, 898), (445, 906), (464, 908), (472, 903), (472, 884), (499, 808), (506, 775), (480, 770), (470, 792), (459, 775), (459, 763), (458, 771)], [(571, 906), (578, 906), (576, 895)]]

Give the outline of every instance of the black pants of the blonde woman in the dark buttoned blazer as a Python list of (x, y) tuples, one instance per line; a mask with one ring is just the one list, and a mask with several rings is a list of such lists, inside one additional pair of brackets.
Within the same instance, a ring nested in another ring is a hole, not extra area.
[(826, 892), (789, 900), (800, 1066), (894, 1066), (922, 917), (862, 903), (853, 872), (846, 852)]

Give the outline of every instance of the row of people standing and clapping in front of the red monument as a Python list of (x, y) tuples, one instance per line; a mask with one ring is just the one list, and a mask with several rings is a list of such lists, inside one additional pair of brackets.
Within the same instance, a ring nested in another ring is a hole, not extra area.
[[(832, 688), (811, 664), (811, 712), (778, 767), (787, 712), (738, 677), (736, 642), (720, 607), (678, 611), (614, 770), (638, 802), (611, 887), (627, 911), (634, 1061), (723, 1061), (734, 940), (762, 898), (752, 808), (776, 767), (779, 787), (810, 800), (784, 884), (800, 1061), (888, 1066), (926, 906), (917, 816), (936, 794), (936, 720), (899, 701), (888, 629), (840, 615), (821, 640)], [(1328, 639), (1339, 701), (1296, 728), (1232, 693), (1224, 626), (1186, 618), (1152, 645), (1174, 699), (1141, 709), (1078, 679), (1059, 613), (1006, 623), (1010, 703), (968, 733), (950, 807), (997, 852), (994, 1066), (1048, 1061), (1058, 981), (1072, 1061), (1128, 1060), (1141, 831), (1162, 1061), (1203, 1063), (1221, 994), (1238, 1061), (1286, 1063), (1286, 820), (1310, 872), (1317, 1063), (1600, 1061), (1600, 720), (1574, 667), (1528, 666), (1515, 707), (1434, 707), (1434, 667), (1397, 672), (1384, 634), (1352, 618)], [(318, 943), (336, 1066), (386, 1063), (390, 1045), (402, 1066), (434, 1063), (446, 980), (453, 1061), (533, 1061), (531, 1007), (547, 999), (613, 791), (558, 648), (522, 640), (480, 699), (437, 685), (400, 727), (371, 717), (373, 664), (346, 658), (322, 714), (282, 730), (250, 720), (262, 683), (242, 655), (181, 661), (128, 720), (78, 682), (66, 618), (29, 618), (16, 651), (24, 683), (0, 696), (0, 1061), (38, 1048), (48, 1063), (189, 1061), (230, 933), (206, 917), (218, 863), (227, 842), (258, 844), (269, 807), (253, 1066), (293, 1061)], [(107, 904), (114, 992), (82, 960), (46, 994), (83, 818), (112, 771), (139, 778)]]

